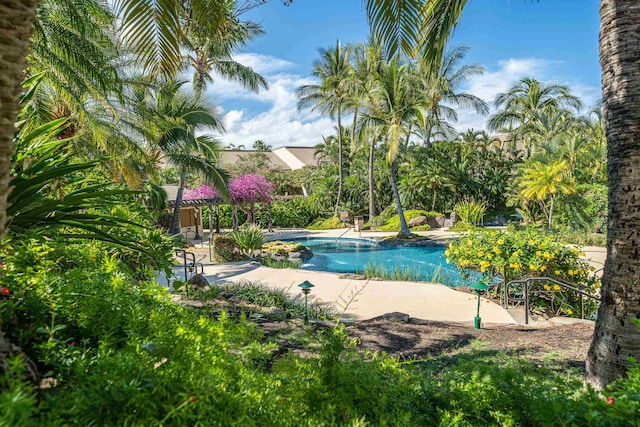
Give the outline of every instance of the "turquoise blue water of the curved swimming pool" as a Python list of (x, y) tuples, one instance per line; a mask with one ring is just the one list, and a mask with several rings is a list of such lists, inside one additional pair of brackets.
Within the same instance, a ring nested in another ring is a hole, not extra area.
[(305, 238), (294, 241), (307, 246), (313, 258), (302, 265), (305, 270), (332, 273), (362, 273), (367, 264), (398, 266), (417, 272), (420, 280), (430, 280), (440, 268), (447, 284), (460, 284), (460, 273), (446, 263), (442, 246), (383, 246), (364, 239)]

